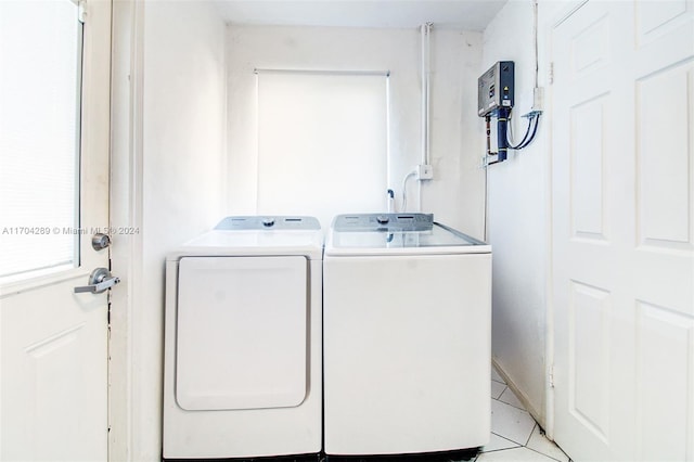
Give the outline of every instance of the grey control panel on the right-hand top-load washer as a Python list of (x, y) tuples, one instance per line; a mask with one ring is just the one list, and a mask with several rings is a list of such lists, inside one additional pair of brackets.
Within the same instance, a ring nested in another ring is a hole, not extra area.
[(434, 226), (432, 214), (354, 214), (338, 215), (335, 231), (428, 231)]

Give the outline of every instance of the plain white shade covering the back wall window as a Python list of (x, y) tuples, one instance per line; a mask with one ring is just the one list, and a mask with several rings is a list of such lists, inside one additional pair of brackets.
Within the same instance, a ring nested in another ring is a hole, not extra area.
[(387, 75), (258, 72), (259, 214), (382, 211)]

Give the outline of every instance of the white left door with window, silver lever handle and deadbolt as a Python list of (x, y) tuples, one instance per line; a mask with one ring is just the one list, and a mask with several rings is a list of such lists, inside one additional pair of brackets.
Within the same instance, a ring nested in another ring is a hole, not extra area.
[(3, 461), (107, 459), (108, 292), (74, 287), (108, 267), (111, 2), (81, 3), (0, 2)]

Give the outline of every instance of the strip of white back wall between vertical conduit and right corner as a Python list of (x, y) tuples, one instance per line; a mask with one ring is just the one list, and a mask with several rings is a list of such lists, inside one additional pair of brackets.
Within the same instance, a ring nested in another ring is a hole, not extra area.
[(436, 29), (432, 37), (432, 182), (422, 185), (422, 210), (485, 239), (484, 132), (477, 116), (481, 34)]

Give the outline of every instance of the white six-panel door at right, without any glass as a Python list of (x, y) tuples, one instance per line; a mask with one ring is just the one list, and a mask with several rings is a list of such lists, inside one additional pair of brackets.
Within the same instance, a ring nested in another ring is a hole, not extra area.
[(591, 0), (551, 47), (554, 437), (694, 460), (694, 3)]

